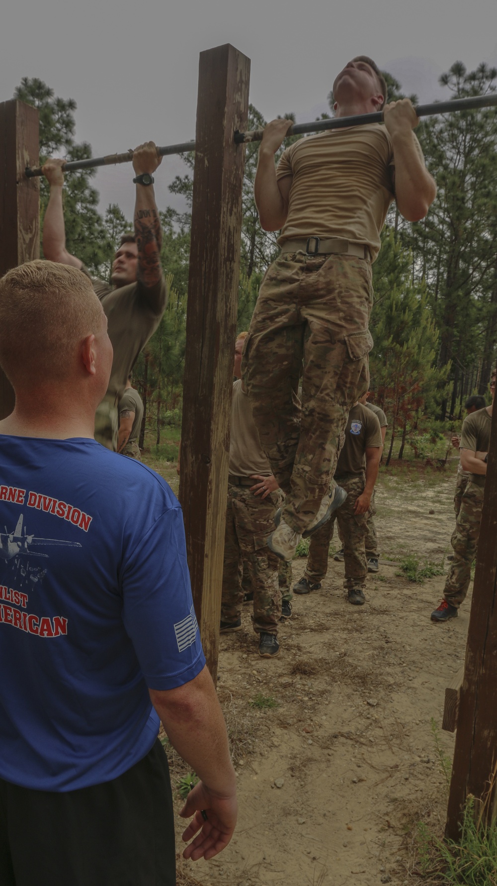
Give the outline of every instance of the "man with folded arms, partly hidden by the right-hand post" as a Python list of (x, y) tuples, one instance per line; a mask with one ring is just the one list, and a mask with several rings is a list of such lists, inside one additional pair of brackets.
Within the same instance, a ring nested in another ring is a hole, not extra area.
[[(491, 392), (493, 404), (495, 374), (492, 377)], [(437, 609), (431, 612), (431, 621), (434, 622), (455, 618), (470, 587), (471, 564), (478, 548), (492, 408), (493, 405), (478, 409), (466, 416), (462, 423), (461, 465), (462, 470), (469, 471), (469, 478), (461, 496), (461, 505), (452, 533), (454, 560), (447, 573), (444, 598)]]

